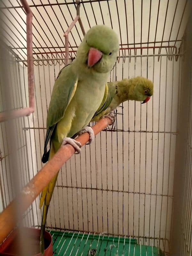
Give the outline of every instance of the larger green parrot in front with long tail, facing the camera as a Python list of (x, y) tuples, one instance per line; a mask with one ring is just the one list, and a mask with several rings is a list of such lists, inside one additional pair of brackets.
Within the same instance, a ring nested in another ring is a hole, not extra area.
[[(71, 137), (81, 130), (89, 132), (89, 142), (92, 142), (93, 130), (86, 126), (100, 107), (104, 92), (108, 90), (106, 83), (118, 50), (119, 42), (114, 30), (105, 25), (96, 25), (84, 36), (77, 49), (76, 59), (60, 70), (47, 114), (43, 163), (52, 158), (61, 145), (67, 143), (80, 153), (81, 144)], [(50, 150), (47, 152), (49, 142)], [(44, 203), (40, 235), (42, 255), (47, 212), (57, 176), (58, 173), (43, 189), (40, 198), (39, 207)]]

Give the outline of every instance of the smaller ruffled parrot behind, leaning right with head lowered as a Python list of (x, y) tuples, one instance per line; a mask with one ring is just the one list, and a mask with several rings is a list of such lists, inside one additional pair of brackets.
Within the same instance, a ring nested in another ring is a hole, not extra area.
[(141, 103), (143, 104), (153, 95), (153, 82), (142, 76), (131, 79), (124, 78), (121, 81), (109, 82), (107, 85), (108, 90), (105, 90), (102, 100), (103, 104), (98, 108), (91, 121), (98, 121), (105, 116), (113, 121), (113, 116), (110, 112), (116, 109), (122, 102), (137, 100), (143, 101)]

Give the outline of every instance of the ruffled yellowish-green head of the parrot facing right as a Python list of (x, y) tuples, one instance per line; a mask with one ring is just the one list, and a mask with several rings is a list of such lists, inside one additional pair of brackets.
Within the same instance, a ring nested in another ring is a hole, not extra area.
[(135, 100), (143, 101), (141, 104), (148, 102), (153, 95), (153, 82), (142, 76), (133, 77), (131, 80), (134, 85)]

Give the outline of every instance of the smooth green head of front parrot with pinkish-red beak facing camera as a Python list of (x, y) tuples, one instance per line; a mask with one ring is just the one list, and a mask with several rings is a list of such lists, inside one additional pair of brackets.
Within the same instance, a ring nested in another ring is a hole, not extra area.
[(87, 68), (107, 73), (113, 68), (119, 51), (115, 31), (105, 25), (96, 25), (88, 30), (77, 49), (77, 57)]

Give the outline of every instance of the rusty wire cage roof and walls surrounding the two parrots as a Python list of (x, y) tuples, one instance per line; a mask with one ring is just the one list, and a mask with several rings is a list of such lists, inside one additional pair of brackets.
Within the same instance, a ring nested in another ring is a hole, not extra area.
[[(36, 110), (13, 121), (20, 187), (42, 168), (47, 109), (54, 81), (65, 65), (63, 34), (76, 17), (74, 0), (32, 0), (28, 4), (34, 15)], [(9, 53), (12, 109), (23, 108), (28, 105), (26, 14), (18, 0), (1, 1), (0, 12), (1, 37)], [(104, 23), (119, 35), (119, 57), (108, 81), (145, 76), (154, 82), (154, 95), (144, 106), (134, 101), (121, 104), (115, 111), (115, 123), (100, 132), (95, 143), (82, 148), (81, 155), (72, 156), (59, 172), (47, 228), (53, 239), (70, 231), (77, 231), (76, 237), (86, 237), (83, 245), (77, 245), (76, 255), (84, 255), (82, 248), (87, 244), (90, 251), (96, 235), (96, 246), (101, 248), (99, 241), (103, 241), (104, 234), (113, 237), (112, 242), (107, 241), (110, 255), (113, 250), (121, 255), (116, 237), (128, 239), (128, 245), (131, 238), (136, 238), (140, 248), (146, 245), (145, 255), (149, 253), (148, 245), (152, 246), (151, 255), (155, 255), (153, 246), (170, 255), (170, 242), (174, 255), (191, 255), (190, 12), (189, 0), (81, 1), (80, 17), (85, 31)], [(76, 23), (69, 34), (70, 61), (82, 38)], [(6, 106), (2, 85), (1, 80), (1, 112)], [(6, 125), (0, 124), (1, 211), (15, 196)], [(36, 198), (24, 214), (24, 226), (41, 225), (38, 206)], [(180, 244), (175, 243), (178, 239)], [(55, 255), (65, 255), (57, 248), (64, 248), (66, 241), (53, 240), (57, 244)], [(70, 253), (73, 250), (74, 247)]]

